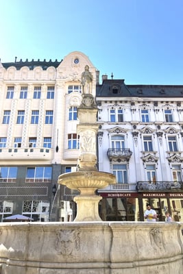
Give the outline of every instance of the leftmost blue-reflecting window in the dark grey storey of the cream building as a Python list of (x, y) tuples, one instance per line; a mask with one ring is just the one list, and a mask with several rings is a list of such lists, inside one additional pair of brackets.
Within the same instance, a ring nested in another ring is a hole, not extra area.
[(16, 182), (16, 166), (0, 166), (0, 182)]

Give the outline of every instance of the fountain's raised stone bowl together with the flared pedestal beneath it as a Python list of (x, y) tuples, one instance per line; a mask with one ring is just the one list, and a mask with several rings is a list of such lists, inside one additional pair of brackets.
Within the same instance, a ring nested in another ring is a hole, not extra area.
[(74, 198), (77, 203), (77, 215), (74, 221), (101, 221), (98, 204), (102, 197), (95, 192), (99, 188), (106, 188), (109, 184), (115, 183), (114, 175), (99, 171), (76, 171), (58, 177), (58, 184), (80, 191), (80, 195)]

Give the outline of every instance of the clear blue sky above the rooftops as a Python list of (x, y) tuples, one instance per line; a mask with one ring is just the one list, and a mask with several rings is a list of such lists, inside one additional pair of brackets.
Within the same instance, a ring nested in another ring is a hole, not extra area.
[(183, 84), (182, 0), (0, 0), (1, 62), (82, 51), (126, 84)]

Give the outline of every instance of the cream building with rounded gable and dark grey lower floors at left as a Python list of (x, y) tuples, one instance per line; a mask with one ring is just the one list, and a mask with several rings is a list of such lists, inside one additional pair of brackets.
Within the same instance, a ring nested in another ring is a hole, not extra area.
[(78, 51), (61, 61), (0, 63), (0, 221), (12, 214), (72, 221), (75, 192), (57, 181), (77, 166), (86, 65), (95, 95), (96, 69)]

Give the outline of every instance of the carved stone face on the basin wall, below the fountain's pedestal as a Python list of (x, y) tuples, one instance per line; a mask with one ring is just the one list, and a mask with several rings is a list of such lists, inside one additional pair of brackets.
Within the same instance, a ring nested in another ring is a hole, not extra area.
[(74, 250), (80, 249), (80, 232), (77, 230), (58, 230), (56, 232), (56, 250), (63, 256), (72, 256)]

